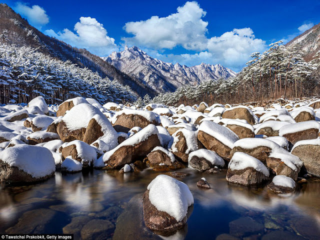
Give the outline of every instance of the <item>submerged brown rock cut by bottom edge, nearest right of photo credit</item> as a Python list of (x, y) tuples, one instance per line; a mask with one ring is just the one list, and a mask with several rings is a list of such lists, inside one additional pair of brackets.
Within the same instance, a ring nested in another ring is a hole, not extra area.
[(106, 239), (114, 229), (112, 222), (102, 219), (93, 219), (81, 229), (81, 239)]

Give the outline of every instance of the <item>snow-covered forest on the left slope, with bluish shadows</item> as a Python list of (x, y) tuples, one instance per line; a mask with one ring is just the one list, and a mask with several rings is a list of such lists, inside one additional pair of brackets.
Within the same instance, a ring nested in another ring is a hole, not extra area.
[(54, 59), (36, 48), (5, 44), (0, 45), (0, 95), (2, 103), (28, 102), (38, 95), (50, 103), (74, 96), (92, 97), (101, 103), (136, 99), (130, 87), (88, 68)]

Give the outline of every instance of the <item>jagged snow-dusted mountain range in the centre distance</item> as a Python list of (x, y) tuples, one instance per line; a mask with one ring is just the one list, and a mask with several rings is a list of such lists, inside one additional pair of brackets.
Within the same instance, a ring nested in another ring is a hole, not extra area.
[(188, 67), (167, 63), (149, 56), (136, 46), (125, 46), (123, 51), (112, 52), (103, 59), (157, 92), (174, 91), (183, 84), (196, 85), (203, 80), (228, 78), (236, 74), (220, 64), (201, 63)]

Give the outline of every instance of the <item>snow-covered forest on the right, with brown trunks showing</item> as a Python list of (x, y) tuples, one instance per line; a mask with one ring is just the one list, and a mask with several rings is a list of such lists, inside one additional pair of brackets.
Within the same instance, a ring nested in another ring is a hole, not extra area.
[(271, 43), (270, 48), (263, 53), (251, 53), (252, 59), (235, 77), (203, 81), (197, 86), (183, 86), (173, 93), (157, 95), (153, 102), (238, 103), (317, 95), (320, 85), (319, 54), (318, 52), (311, 61), (306, 62), (301, 51), (277, 41)]

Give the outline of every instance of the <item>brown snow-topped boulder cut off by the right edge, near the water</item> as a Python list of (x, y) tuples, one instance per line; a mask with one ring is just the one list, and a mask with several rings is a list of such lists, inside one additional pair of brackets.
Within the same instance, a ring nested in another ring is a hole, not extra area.
[(320, 137), (296, 142), (291, 153), (303, 161), (308, 173), (320, 177)]

